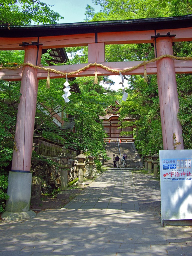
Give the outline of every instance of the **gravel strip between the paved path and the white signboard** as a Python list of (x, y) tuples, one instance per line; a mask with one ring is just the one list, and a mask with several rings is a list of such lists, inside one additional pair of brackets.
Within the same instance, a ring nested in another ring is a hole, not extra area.
[(141, 212), (151, 211), (161, 214), (160, 179), (153, 179), (152, 175), (132, 172)]

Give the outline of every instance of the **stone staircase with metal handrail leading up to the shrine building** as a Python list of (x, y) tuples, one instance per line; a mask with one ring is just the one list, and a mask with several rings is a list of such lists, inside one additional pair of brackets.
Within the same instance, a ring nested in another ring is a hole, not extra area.
[[(134, 143), (119, 143), (119, 148), (120, 148), (121, 156), (123, 154), (127, 155), (127, 159), (125, 162), (126, 168), (133, 168), (133, 169), (143, 168), (141, 158), (137, 153)], [(111, 160), (108, 160), (104, 164), (108, 167), (113, 167), (113, 154), (115, 154), (115, 156), (118, 155), (120, 157), (117, 142), (106, 143), (105, 150), (107, 155), (111, 158)]]

